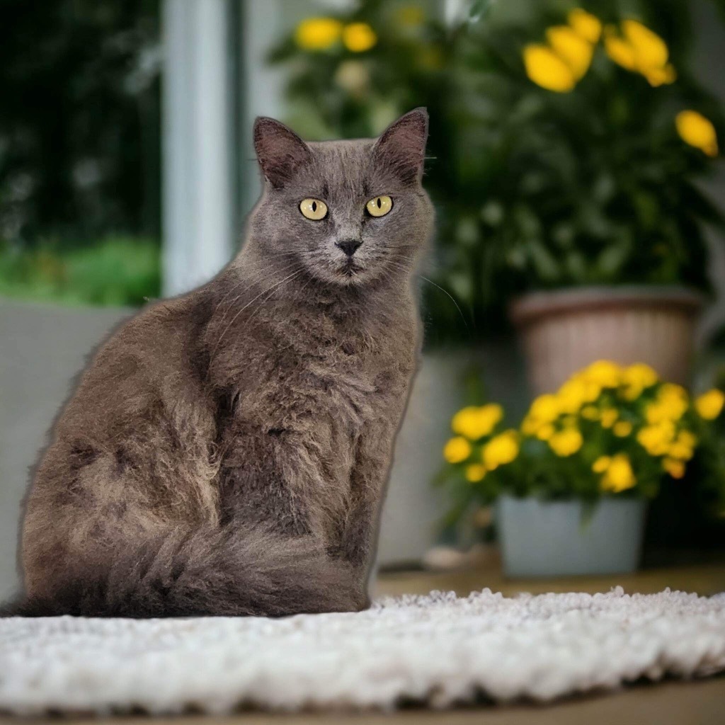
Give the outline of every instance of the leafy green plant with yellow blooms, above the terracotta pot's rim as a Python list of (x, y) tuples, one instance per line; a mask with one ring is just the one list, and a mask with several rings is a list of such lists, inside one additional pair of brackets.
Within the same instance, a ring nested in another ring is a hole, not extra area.
[[(479, 194), (475, 212), (460, 215), (476, 228), (465, 234), (474, 250), (500, 253), (492, 266), (512, 270), (521, 291), (708, 289), (703, 225), (725, 229), (725, 218), (695, 182), (717, 155), (721, 109), (681, 47), (675, 62), (658, 33), (616, 4), (587, 7), (597, 13), (531, 4), (521, 17), (471, 25), (460, 43), (452, 78), (470, 128), (460, 175)], [(663, 17), (674, 7), (644, 2), (639, 12)], [(475, 253), (460, 245), (448, 268), (463, 276)], [(465, 287), (456, 291), (463, 297)]]

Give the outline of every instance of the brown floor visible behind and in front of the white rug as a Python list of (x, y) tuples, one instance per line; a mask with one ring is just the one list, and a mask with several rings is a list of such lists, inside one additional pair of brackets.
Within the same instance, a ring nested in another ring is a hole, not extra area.
[[(517, 592), (606, 592), (621, 585), (626, 592), (660, 592), (666, 587), (713, 595), (725, 591), (725, 566), (713, 563), (701, 566), (650, 569), (632, 575), (576, 577), (539, 581), (508, 581), (497, 566), (465, 572), (386, 573), (378, 579), (377, 596), (427, 594), (431, 589), (452, 589), (468, 595), (474, 589), (489, 587), (507, 596)], [(446, 725), (619, 725), (657, 723), (658, 725), (715, 725), (725, 721), (725, 676), (697, 682), (671, 680), (659, 684), (637, 684), (620, 692), (573, 697), (552, 705), (484, 705), (434, 712), (407, 709), (397, 713), (305, 713), (268, 715), (241, 713), (230, 717), (185, 716), (158, 718), (153, 725), (311, 725), (348, 721), (355, 725), (403, 725), (444, 723)], [(107, 718), (112, 725), (140, 725), (148, 718)], [(0, 718), (0, 725), (27, 723), (20, 718)], [(57, 725), (57, 718), (33, 720), (33, 723)], [(63, 725), (77, 725), (81, 720), (63, 718)], [(90, 723), (88, 719), (83, 721)], [(101, 722), (98, 720), (97, 722)]]

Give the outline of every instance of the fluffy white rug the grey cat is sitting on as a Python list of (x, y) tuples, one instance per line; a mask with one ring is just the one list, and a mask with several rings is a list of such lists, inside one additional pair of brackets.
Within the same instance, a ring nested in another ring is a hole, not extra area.
[(431, 592), (288, 619), (0, 620), (0, 710), (439, 708), (725, 670), (725, 595)]

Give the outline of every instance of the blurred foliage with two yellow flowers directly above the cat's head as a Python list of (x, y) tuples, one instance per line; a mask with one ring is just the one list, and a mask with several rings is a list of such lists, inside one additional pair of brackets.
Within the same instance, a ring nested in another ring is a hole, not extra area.
[(418, 5), (361, 0), (302, 20), (269, 60), (289, 67), (288, 117), (302, 135), (375, 136), (415, 105), (440, 106), (448, 47), (442, 22)]

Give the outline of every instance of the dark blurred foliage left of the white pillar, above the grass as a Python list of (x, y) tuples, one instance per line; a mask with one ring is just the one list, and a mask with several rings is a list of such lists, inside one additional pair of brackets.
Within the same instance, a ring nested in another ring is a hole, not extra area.
[(0, 237), (159, 233), (158, 0), (5, 0)]

